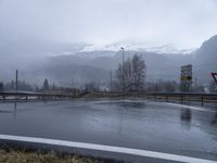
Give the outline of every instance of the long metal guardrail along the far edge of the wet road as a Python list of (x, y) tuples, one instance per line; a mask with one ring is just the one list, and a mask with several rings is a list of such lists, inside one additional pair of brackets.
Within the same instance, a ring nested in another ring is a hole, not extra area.
[[(47, 93), (47, 92), (0, 92), (0, 100), (7, 100), (9, 97), (14, 97), (15, 99), (24, 99), (26, 101), (29, 100), (29, 97), (36, 97), (37, 99), (73, 99), (73, 98), (81, 98), (87, 93), (91, 93), (89, 91), (80, 92), (77, 96), (73, 96), (72, 93)], [(181, 103), (187, 101), (200, 102), (201, 105), (204, 103), (217, 103), (217, 93), (197, 93), (197, 92), (105, 92), (105, 91), (95, 91), (93, 93), (98, 93), (102, 97), (141, 97), (145, 99), (161, 100), (161, 101), (180, 101)]]

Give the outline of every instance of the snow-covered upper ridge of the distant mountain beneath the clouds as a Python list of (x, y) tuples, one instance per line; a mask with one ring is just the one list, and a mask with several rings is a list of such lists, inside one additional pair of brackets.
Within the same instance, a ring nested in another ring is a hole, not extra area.
[[(58, 46), (56, 46), (58, 47)], [(56, 55), (77, 55), (80, 58), (94, 59), (99, 57), (114, 57), (115, 52), (120, 51), (120, 48), (125, 51), (137, 52), (155, 52), (158, 54), (189, 54), (196, 49), (178, 49), (173, 45), (155, 46), (141, 43), (113, 43), (105, 46), (97, 46), (90, 43), (75, 43), (75, 45), (62, 45), (54, 49), (54, 51), (47, 52), (49, 57)], [(53, 50), (53, 49), (51, 49)], [(91, 52), (91, 53), (90, 53)]]

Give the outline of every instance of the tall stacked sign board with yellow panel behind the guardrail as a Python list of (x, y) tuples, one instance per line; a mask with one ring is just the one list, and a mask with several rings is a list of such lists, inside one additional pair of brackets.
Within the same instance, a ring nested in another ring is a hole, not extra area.
[(192, 64), (181, 66), (181, 91), (192, 92)]

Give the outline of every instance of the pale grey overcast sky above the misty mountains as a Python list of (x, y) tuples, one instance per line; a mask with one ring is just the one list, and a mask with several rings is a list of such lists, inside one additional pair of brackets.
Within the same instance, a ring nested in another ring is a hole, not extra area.
[(217, 0), (0, 0), (3, 43), (30, 39), (190, 49), (216, 34)]

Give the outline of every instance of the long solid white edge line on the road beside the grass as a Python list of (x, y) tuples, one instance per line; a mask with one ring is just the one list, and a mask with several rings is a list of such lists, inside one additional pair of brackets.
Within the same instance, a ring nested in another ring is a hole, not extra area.
[(199, 158), (191, 158), (191, 156), (184, 156), (184, 155), (178, 155), (178, 154), (132, 149), (132, 148), (95, 145), (95, 143), (36, 138), (36, 137), (0, 135), (0, 140), (14, 140), (14, 141), (23, 141), (23, 142), (34, 142), (34, 143), (43, 143), (43, 145), (54, 145), (54, 146), (80, 148), (80, 149), (90, 149), (90, 150), (98, 150), (98, 151), (106, 151), (106, 152), (116, 152), (116, 153), (124, 153), (124, 154), (148, 156), (148, 158), (162, 159), (162, 160), (168, 160), (168, 161), (178, 161), (178, 162), (184, 162), (184, 163), (217, 163), (217, 161), (199, 159)]

